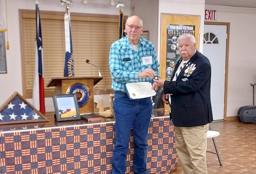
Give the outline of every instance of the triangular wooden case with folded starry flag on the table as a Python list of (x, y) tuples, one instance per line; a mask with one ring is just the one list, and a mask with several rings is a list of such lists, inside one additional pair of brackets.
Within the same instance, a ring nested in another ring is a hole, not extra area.
[(0, 125), (46, 121), (49, 120), (17, 92), (0, 107)]

